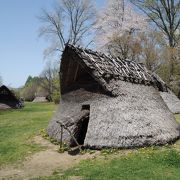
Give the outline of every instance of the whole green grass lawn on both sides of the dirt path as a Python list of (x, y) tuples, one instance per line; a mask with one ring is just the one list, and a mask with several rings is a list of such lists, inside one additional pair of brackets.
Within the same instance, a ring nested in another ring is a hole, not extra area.
[[(18, 164), (29, 154), (42, 150), (31, 143), (41, 129), (47, 127), (55, 105), (51, 103), (26, 103), (20, 110), (0, 111), (0, 166)], [(180, 114), (175, 115), (180, 122)], [(50, 177), (37, 179), (68, 179), (80, 176), (82, 179), (172, 179), (180, 177), (180, 141), (175, 145), (155, 146), (109, 153), (91, 160), (81, 161), (65, 172), (55, 170)], [(105, 152), (105, 153), (104, 153)], [(38, 169), (37, 169), (38, 170)]]

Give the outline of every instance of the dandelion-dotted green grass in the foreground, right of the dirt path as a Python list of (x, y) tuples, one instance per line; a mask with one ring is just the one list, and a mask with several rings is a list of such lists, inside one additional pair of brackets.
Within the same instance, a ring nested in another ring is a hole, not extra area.
[[(180, 122), (180, 114), (175, 115)], [(180, 140), (173, 145), (154, 146), (115, 153), (101, 153), (102, 157), (81, 161), (75, 167), (62, 172), (55, 170), (50, 177), (36, 180), (68, 180), (69, 177), (85, 180), (179, 180)]]

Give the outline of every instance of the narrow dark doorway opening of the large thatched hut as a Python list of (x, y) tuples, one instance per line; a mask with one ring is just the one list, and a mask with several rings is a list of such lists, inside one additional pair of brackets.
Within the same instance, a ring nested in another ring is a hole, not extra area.
[[(81, 116), (73, 134), (78, 144), (83, 145), (89, 124), (90, 105), (83, 105), (80, 114)], [(77, 146), (74, 140), (72, 140), (70, 144), (71, 147)]]

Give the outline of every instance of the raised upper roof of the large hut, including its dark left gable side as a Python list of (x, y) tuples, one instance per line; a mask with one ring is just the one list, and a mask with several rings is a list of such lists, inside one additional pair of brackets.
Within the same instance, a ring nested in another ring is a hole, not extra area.
[(102, 87), (113, 96), (117, 96), (117, 89), (110, 86), (111, 80), (122, 80), (135, 84), (144, 84), (166, 91), (166, 86), (158, 76), (150, 74), (143, 64), (134, 61), (120, 60), (90, 49), (78, 48), (67, 44), (61, 62), (61, 90), (69, 90), (78, 76), (80, 69), (85, 69)]

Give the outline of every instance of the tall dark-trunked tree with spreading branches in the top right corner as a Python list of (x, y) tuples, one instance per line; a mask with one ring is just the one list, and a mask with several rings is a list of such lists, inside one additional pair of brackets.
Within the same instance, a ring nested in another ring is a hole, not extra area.
[(179, 39), (180, 0), (131, 0), (168, 38), (170, 47)]

